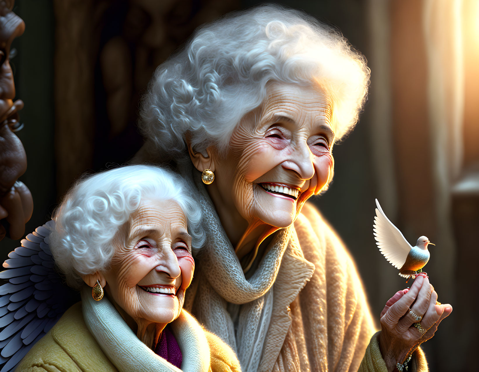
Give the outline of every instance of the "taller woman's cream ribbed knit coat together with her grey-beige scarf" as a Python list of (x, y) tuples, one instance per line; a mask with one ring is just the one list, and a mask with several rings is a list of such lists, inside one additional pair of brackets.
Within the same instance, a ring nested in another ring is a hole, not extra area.
[(237, 352), (243, 372), (357, 371), (376, 329), (353, 260), (319, 212), (307, 203), (246, 279), (200, 175), (181, 173), (208, 237), (184, 307)]

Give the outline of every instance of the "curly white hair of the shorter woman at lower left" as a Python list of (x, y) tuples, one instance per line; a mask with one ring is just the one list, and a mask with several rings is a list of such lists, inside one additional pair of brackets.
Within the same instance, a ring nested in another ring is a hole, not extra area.
[(205, 242), (202, 213), (179, 175), (152, 165), (110, 169), (77, 182), (52, 217), (50, 249), (69, 286), (78, 289), (80, 275), (108, 268), (120, 228), (151, 197), (178, 203), (198, 252)]

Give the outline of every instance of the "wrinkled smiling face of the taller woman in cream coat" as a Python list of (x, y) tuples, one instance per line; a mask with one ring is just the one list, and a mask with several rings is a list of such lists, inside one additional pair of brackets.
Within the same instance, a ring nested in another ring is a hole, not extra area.
[(248, 222), (287, 227), (332, 176), (331, 105), (319, 88), (274, 83), (268, 93), (239, 123), (215, 175)]

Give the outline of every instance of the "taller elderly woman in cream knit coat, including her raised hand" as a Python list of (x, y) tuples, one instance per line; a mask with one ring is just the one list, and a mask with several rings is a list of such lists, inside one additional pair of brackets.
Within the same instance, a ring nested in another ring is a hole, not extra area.
[(418, 346), (452, 307), (420, 276), (371, 338), (353, 260), (306, 203), (331, 181), (333, 144), (358, 120), (368, 82), (340, 33), (273, 5), (202, 26), (150, 82), (136, 161), (190, 180), (207, 241), (185, 307), (244, 372), (427, 370)]

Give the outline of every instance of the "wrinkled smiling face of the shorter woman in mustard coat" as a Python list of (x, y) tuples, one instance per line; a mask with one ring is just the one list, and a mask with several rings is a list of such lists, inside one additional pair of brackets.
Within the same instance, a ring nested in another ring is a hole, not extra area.
[(194, 272), (182, 209), (171, 200), (145, 200), (125, 230), (104, 274), (107, 293), (137, 322), (169, 323), (180, 315)]

